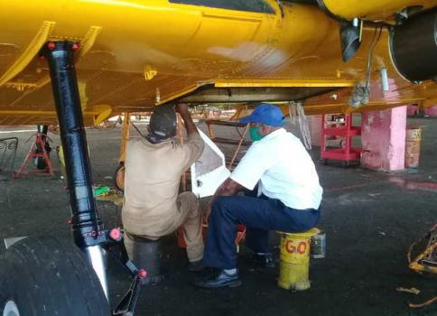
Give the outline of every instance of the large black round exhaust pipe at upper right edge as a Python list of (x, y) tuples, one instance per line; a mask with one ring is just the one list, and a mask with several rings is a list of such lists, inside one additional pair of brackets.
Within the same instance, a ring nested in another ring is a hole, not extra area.
[(390, 33), (390, 56), (404, 79), (437, 80), (437, 7), (395, 26)]

